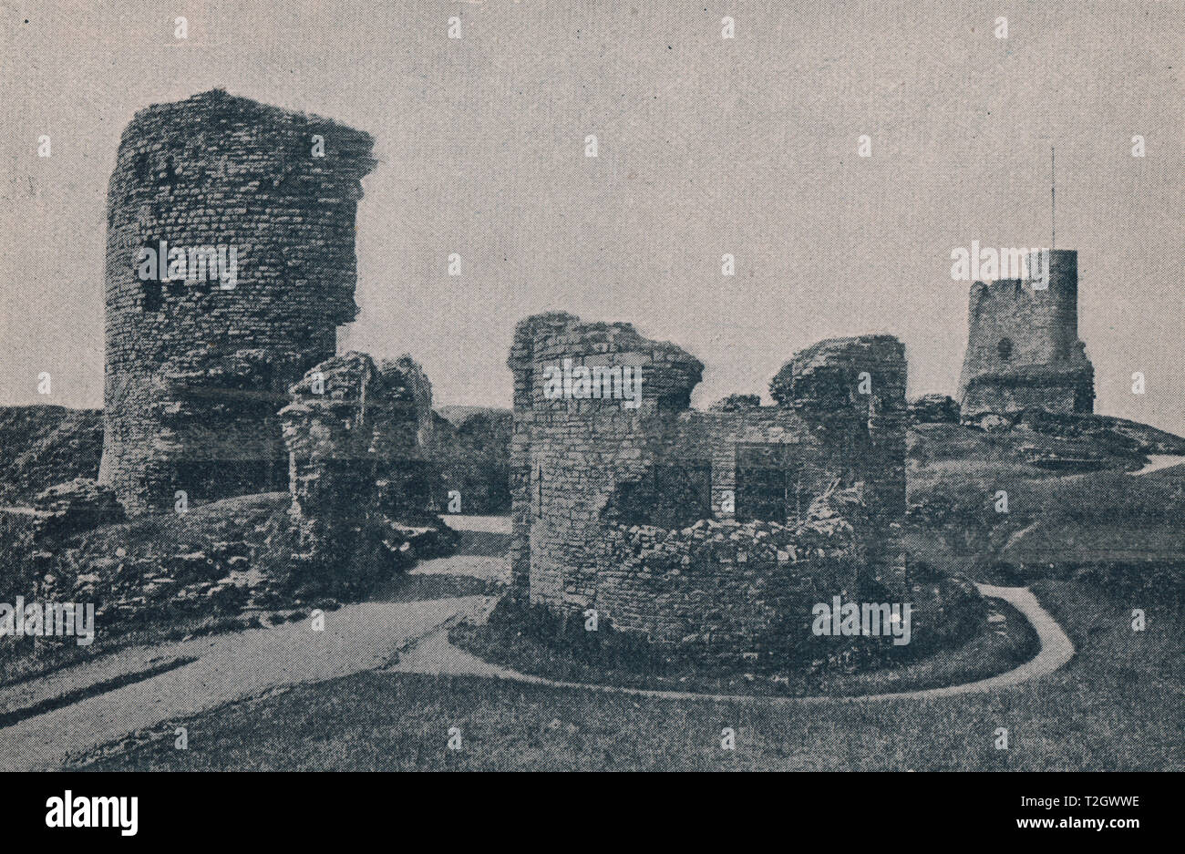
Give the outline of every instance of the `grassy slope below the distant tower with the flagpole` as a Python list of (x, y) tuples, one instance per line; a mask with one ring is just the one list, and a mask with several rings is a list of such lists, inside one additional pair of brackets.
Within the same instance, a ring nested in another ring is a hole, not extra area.
[[(1012, 584), (1072, 572), (1125, 585), (1142, 577), (1180, 595), (1185, 467), (1133, 476), (1145, 464), (1139, 448), (1091, 450), (1091, 441), (957, 425), (911, 431), (904, 538), (911, 565)], [(1106, 467), (1074, 474), (1035, 467), (1026, 460), (1033, 445), (1093, 452)]]

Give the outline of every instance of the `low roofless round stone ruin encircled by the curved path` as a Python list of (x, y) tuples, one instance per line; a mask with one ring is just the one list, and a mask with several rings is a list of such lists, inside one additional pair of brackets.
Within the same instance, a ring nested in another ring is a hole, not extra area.
[[(640, 368), (640, 405), (549, 398), (545, 373), (565, 359)], [(656, 642), (744, 649), (774, 629), (796, 578), (835, 569), (818, 561), (843, 553), (848, 590), (903, 576), (893, 525), (905, 500), (905, 360), (896, 339), (820, 342), (779, 373), (780, 405), (735, 411), (688, 409), (703, 365), (628, 323), (529, 317), (508, 366), (518, 598), (563, 615), (595, 609)], [(794, 547), (815, 535), (803, 526), (819, 521), (809, 518), (819, 496), (845, 487), (860, 507), (852, 539), (831, 552)]]

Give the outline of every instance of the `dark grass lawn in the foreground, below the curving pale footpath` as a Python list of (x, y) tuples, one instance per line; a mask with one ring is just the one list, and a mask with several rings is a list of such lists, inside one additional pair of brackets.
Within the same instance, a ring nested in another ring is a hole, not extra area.
[[(235, 704), (76, 765), (118, 770), (1183, 770), (1179, 608), (1074, 580), (1038, 598), (1078, 648), (994, 694), (877, 704), (651, 700), (480, 678), (364, 673)], [(1130, 609), (1147, 609), (1144, 633)], [(188, 749), (173, 728), (188, 727)], [(449, 750), (449, 728), (461, 750)], [(736, 732), (736, 750), (720, 731)], [(995, 749), (998, 727), (1008, 749)]]

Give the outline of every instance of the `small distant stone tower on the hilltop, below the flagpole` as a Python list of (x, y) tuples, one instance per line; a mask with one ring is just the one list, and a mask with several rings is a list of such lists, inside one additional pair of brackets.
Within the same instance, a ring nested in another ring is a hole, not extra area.
[(1094, 411), (1095, 372), (1078, 340), (1078, 253), (1052, 250), (1049, 267), (1045, 289), (1035, 288), (1043, 282), (1031, 275), (972, 284), (959, 381), (965, 419), (1025, 409)]

